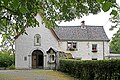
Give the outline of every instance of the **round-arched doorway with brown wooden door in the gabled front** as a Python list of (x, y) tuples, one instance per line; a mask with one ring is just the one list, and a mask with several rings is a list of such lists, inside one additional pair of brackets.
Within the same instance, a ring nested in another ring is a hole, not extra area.
[(44, 60), (43, 60), (43, 52), (41, 50), (34, 50), (32, 52), (32, 68), (43, 68)]

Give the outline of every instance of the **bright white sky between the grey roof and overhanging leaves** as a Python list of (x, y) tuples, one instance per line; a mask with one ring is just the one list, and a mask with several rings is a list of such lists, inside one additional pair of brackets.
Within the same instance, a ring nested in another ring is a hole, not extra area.
[[(120, 4), (120, 0), (116, 0), (118, 4)], [(109, 39), (112, 38), (113, 34), (116, 33), (117, 29), (110, 31), (110, 27), (112, 23), (109, 21), (110, 18), (109, 12), (101, 12), (97, 15), (90, 14), (89, 16), (85, 16), (81, 19), (75, 19), (70, 22), (61, 22), (60, 26), (77, 26), (81, 25), (81, 21), (85, 21), (86, 25), (95, 25), (95, 26), (104, 26), (105, 32)], [(120, 26), (119, 26), (120, 27)]]

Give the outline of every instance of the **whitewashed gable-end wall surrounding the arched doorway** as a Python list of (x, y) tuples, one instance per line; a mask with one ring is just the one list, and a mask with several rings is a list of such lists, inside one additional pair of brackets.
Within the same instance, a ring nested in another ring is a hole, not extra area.
[[(58, 41), (53, 36), (51, 31), (41, 23), (41, 17), (36, 16), (39, 21), (39, 27), (27, 28), (26, 32), (28, 35), (23, 34), (18, 37), (15, 41), (16, 55), (15, 55), (15, 66), (16, 68), (31, 68), (31, 55), (34, 50), (41, 50), (44, 54), (44, 68), (48, 67), (47, 61), (48, 56), (46, 51), (52, 47), (53, 49), (58, 49)], [(41, 36), (41, 46), (34, 46), (34, 36), (35, 34), (40, 34)], [(28, 57), (30, 55), (30, 57)], [(24, 61), (24, 57), (27, 57), (27, 61)]]

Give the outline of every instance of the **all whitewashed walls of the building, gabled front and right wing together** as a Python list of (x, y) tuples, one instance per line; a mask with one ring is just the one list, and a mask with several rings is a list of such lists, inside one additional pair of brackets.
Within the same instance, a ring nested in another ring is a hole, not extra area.
[[(41, 17), (36, 16), (39, 21), (39, 27), (27, 28), (26, 32), (28, 35), (20, 35), (15, 41), (16, 55), (15, 55), (15, 66), (17, 69), (31, 68), (32, 67), (32, 52), (34, 50), (41, 50), (44, 54), (44, 68), (48, 68), (48, 56), (46, 51), (52, 47), (58, 51), (64, 51), (66, 53), (72, 53), (74, 58), (82, 58), (82, 60), (91, 60), (97, 58), (98, 60), (103, 59), (103, 41), (78, 41), (78, 51), (67, 51), (66, 41), (57, 41), (51, 31), (41, 23)], [(40, 34), (41, 46), (34, 46), (34, 36)], [(92, 44), (97, 44), (97, 53), (92, 52)], [(104, 42), (104, 54), (109, 54), (108, 42)], [(28, 56), (29, 55), (29, 56)], [(24, 57), (27, 57), (27, 61), (24, 61)]]

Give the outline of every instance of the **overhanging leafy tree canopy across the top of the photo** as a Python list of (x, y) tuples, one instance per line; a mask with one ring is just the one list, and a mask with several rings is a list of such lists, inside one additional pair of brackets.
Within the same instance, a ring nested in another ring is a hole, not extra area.
[[(117, 15), (116, 0), (0, 0), (0, 34), (3, 41), (14, 42), (27, 27), (36, 27), (35, 16), (42, 17), (47, 28), (57, 26), (55, 21), (71, 21), (101, 10)], [(5, 44), (5, 43), (3, 43)]]

